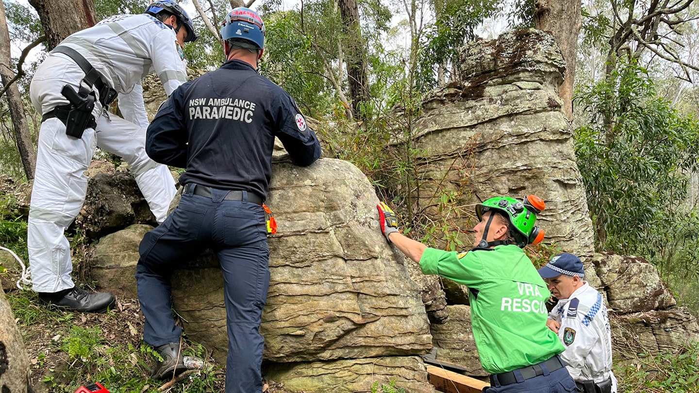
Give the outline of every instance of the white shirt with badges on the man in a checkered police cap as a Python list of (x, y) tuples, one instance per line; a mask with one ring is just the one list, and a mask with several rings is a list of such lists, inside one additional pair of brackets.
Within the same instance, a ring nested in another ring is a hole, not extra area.
[(584, 282), (568, 299), (556, 303), (549, 319), (561, 324), (559, 338), (565, 346), (561, 358), (568, 363), (572, 379), (600, 383), (612, 378), (612, 393), (616, 393), (610, 321), (602, 295)]

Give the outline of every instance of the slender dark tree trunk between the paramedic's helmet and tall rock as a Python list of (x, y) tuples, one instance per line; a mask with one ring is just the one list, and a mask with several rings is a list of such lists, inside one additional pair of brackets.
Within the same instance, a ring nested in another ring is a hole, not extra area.
[(359, 29), (359, 8), (356, 5), (356, 0), (340, 0), (338, 3), (343, 19), (343, 30), (347, 36), (345, 59), (352, 112), (354, 117), (363, 120), (368, 116), (366, 113), (361, 113), (360, 109), (362, 103), (368, 101), (369, 88), (366, 78), (366, 54)]

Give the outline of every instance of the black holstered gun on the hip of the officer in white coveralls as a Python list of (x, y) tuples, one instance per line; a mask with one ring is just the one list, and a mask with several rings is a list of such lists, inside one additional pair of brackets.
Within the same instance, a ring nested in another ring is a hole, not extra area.
[(71, 85), (65, 85), (61, 94), (66, 97), (69, 104), (57, 106), (54, 110), (43, 115), (41, 121), (57, 117), (63, 124), (66, 124), (66, 135), (80, 139), (86, 129), (97, 127), (97, 122), (92, 115), (95, 94), (82, 85), (78, 92), (75, 92)]

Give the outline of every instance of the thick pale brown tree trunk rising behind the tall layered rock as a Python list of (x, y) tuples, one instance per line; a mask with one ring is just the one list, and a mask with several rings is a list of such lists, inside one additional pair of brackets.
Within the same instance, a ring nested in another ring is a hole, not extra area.
[(582, 25), (580, 0), (536, 0), (534, 22), (536, 28), (554, 36), (565, 59), (565, 75), (559, 97), (563, 112), (572, 120), (572, 90), (577, 62), (577, 36)]

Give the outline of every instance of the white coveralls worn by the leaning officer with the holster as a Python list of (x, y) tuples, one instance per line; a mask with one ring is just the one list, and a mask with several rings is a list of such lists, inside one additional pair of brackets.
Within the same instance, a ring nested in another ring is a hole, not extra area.
[[(36, 292), (58, 292), (74, 286), (64, 231), (85, 202), (85, 171), (96, 147), (119, 155), (129, 164), (157, 221), (165, 220), (175, 196), (175, 180), (167, 166), (157, 164), (145, 152), (148, 120), (141, 80), (155, 71), (168, 96), (187, 81), (186, 62), (175, 31), (150, 15), (108, 17), (59, 45), (77, 50), (103, 82), (119, 93), (119, 108), (126, 120), (104, 114), (101, 103), (95, 101), (92, 114), (96, 129), (86, 129), (80, 139), (67, 136), (66, 126), (56, 117), (41, 124), (27, 230)], [(78, 91), (84, 77), (69, 56), (51, 53), (31, 80), (31, 102), (42, 114), (65, 105), (69, 101), (61, 94), (64, 85)], [(93, 91), (99, 100), (99, 92), (94, 87)]]

